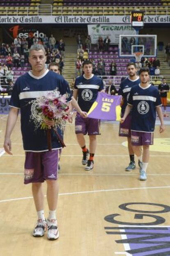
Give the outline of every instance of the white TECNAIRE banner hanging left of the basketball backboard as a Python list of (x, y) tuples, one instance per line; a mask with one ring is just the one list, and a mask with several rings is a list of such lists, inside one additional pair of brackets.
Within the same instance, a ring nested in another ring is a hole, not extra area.
[(136, 35), (136, 30), (132, 28), (130, 25), (124, 24), (93, 24), (88, 25), (88, 35), (92, 38), (92, 44), (97, 44), (99, 40), (99, 36), (103, 38), (103, 40), (108, 35), (111, 43), (118, 44), (119, 43), (119, 35)]

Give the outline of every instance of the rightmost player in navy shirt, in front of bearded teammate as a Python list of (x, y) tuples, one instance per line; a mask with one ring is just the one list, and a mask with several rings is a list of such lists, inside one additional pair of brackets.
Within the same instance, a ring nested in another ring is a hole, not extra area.
[[(139, 70), (140, 84), (131, 88), (124, 116), (123, 123), (132, 108), (131, 119), (131, 143), (133, 150), (142, 162), (140, 166), (139, 179), (147, 179), (146, 170), (149, 162), (149, 145), (153, 145), (156, 112), (161, 121), (159, 132), (165, 130), (163, 115), (161, 110), (161, 98), (156, 87), (149, 84), (149, 68)], [(143, 148), (143, 153), (141, 150)]]

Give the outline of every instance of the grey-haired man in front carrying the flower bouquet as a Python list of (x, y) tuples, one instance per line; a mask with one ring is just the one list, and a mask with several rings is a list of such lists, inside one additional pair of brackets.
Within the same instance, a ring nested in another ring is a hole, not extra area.
[[(4, 149), (11, 153), (11, 132), (14, 129), (21, 110), (21, 132), (23, 137), (23, 148), (25, 150), (25, 179), (24, 183), (32, 183), (32, 194), (37, 210), (38, 221), (33, 230), (34, 237), (44, 236), (46, 229), (49, 240), (59, 237), (56, 220), (56, 207), (58, 198), (58, 157), (62, 148), (57, 141), (56, 135), (51, 131), (52, 150), (48, 151), (46, 133), (42, 129), (36, 129), (34, 123), (30, 122), (31, 104), (28, 102), (46, 92), (58, 88), (61, 94), (68, 94), (68, 102), (71, 101), (71, 91), (68, 83), (61, 75), (45, 69), (46, 52), (42, 45), (32, 45), (29, 53), (29, 62), (32, 71), (25, 73), (16, 80), (11, 95), (7, 127), (5, 132)], [(53, 121), (46, 121), (49, 126)], [(57, 160), (57, 161), (56, 161)], [(47, 183), (47, 202), (49, 215), (46, 221), (44, 217), (44, 193), (42, 183)]]

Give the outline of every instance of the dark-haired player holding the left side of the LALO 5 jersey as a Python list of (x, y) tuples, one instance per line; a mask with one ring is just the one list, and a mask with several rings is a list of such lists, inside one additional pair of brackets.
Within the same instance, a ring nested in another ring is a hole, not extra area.
[[(91, 61), (83, 62), (84, 75), (76, 78), (73, 96), (77, 100), (81, 110), (88, 112), (97, 98), (98, 92), (103, 90), (103, 81), (92, 74), (93, 65)], [(96, 135), (100, 134), (99, 119), (83, 118), (78, 113), (75, 120), (75, 132), (77, 141), (83, 150), (82, 164), (87, 166), (85, 170), (89, 171), (94, 167), (94, 154), (96, 150)], [(84, 135), (89, 135), (90, 151), (86, 148)], [(90, 153), (90, 158), (88, 156)]]

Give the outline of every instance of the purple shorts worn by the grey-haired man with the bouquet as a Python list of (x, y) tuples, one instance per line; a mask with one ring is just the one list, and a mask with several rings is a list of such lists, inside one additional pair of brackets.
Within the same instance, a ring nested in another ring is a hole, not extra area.
[(58, 178), (60, 149), (45, 152), (26, 152), (24, 184)]

